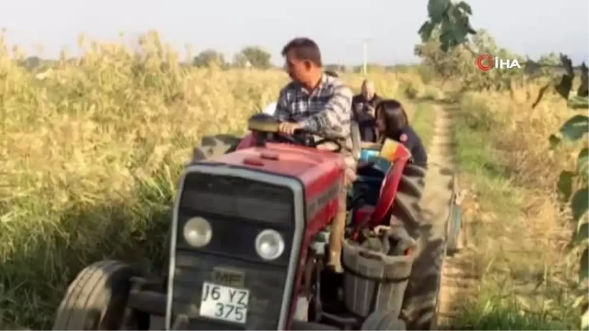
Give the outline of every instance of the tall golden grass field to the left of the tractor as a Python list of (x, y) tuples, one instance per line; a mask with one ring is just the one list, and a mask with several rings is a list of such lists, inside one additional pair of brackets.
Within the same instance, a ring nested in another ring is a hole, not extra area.
[[(29, 71), (0, 40), (0, 321), (35, 330), (86, 264), (157, 267), (191, 148), (241, 133), (287, 82), (280, 71), (182, 68), (155, 34), (139, 48), (82, 48)], [(412, 75), (370, 78), (389, 97), (423, 90)]]

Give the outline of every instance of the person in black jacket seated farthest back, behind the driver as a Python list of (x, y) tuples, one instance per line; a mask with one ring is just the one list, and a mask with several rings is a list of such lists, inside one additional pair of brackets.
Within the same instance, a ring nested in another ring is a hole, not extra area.
[(381, 100), (369, 80), (362, 82), (362, 93), (352, 99), (352, 114), (360, 128), (362, 141), (376, 142), (375, 109)]

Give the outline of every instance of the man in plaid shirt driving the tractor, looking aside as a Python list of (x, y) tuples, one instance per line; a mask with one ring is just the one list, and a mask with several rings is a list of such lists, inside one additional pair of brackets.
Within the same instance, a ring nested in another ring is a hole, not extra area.
[(339, 194), (339, 212), (329, 240), (329, 265), (342, 272), (340, 262), (346, 226), (346, 198), (356, 177), (356, 158), (351, 136), (352, 90), (323, 71), (319, 47), (309, 38), (295, 38), (282, 49), (292, 82), (280, 91), (276, 117), (280, 132), (296, 130), (339, 141), (346, 162), (345, 183)]

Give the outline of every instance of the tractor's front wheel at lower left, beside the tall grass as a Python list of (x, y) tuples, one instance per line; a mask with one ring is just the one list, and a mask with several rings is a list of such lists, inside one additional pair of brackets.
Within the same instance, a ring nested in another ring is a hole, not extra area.
[(113, 260), (86, 267), (68, 287), (52, 330), (122, 330), (131, 277), (141, 274), (137, 268)]

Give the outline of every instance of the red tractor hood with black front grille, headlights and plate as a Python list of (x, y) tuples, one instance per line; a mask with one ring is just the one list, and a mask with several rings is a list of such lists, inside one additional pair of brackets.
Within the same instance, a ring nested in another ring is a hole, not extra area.
[(188, 166), (172, 224), (166, 324), (283, 330), (300, 261), (337, 210), (340, 155), (267, 144)]

